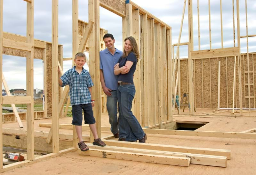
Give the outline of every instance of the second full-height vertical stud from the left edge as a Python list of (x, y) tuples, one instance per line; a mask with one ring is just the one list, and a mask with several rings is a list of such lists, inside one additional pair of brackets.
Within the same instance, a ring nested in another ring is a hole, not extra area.
[(28, 160), (34, 160), (34, 1), (27, 3), (27, 43), (32, 46), (27, 52), (27, 152)]

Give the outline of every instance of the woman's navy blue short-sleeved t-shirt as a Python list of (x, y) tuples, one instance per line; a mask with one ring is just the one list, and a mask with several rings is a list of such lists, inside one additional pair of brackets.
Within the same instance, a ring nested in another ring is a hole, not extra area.
[(118, 81), (122, 81), (125, 83), (132, 83), (133, 84), (133, 74), (136, 70), (136, 65), (137, 65), (137, 58), (133, 52), (130, 52), (128, 56), (121, 57), (118, 62), (119, 62), (119, 68), (125, 66), (125, 63), (127, 61), (133, 62), (132, 67), (130, 68), (130, 71), (126, 74), (119, 74), (118, 76)]

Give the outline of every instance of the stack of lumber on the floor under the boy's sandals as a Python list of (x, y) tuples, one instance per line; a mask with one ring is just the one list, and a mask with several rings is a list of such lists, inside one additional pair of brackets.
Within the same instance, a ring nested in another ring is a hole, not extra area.
[(230, 150), (194, 148), (152, 143), (121, 142), (103, 140), (107, 146), (88, 143), (90, 150), (80, 151), (86, 156), (132, 160), (156, 164), (189, 166), (190, 164), (227, 167)]

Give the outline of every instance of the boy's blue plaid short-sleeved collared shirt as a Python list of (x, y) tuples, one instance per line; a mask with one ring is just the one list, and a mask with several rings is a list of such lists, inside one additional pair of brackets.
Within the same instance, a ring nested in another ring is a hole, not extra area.
[(62, 86), (69, 85), (70, 103), (73, 105), (88, 104), (92, 101), (88, 87), (93, 86), (90, 73), (83, 68), (81, 74), (76, 71), (76, 66), (69, 69), (60, 77)]

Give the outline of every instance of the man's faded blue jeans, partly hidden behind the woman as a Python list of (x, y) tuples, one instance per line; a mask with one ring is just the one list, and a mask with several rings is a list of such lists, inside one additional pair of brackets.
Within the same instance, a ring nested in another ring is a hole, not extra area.
[(109, 124), (111, 125), (111, 132), (116, 134), (118, 132), (117, 123), (117, 91), (112, 91), (111, 96), (107, 96), (107, 110)]

